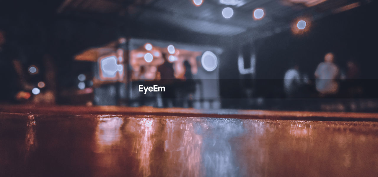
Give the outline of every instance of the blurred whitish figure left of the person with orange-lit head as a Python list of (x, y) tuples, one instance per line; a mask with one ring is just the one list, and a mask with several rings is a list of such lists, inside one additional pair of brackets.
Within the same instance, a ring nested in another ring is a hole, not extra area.
[(293, 98), (301, 84), (301, 77), (299, 75), (299, 66), (296, 64), (291, 69), (287, 70), (283, 78), (283, 88), (287, 98)]

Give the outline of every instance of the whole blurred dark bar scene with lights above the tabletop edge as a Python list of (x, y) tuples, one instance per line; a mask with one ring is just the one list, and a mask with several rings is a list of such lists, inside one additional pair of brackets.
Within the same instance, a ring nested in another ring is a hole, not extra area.
[(376, 111), (376, 16), (373, 0), (3, 1), (0, 102)]

